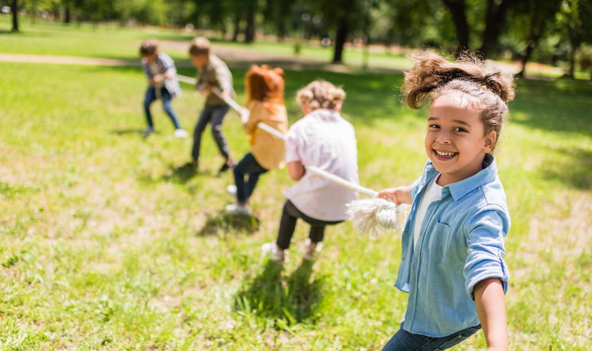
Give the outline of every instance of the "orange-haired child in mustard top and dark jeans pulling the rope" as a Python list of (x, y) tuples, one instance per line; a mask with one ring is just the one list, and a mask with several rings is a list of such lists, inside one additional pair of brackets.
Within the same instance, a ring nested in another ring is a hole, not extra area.
[[(229, 193), (236, 195), (236, 204), (229, 204), (226, 210), (239, 215), (249, 215), (247, 203), (253, 194), (259, 176), (272, 169), (284, 168), (284, 141), (257, 128), (262, 122), (278, 131), (288, 130), (288, 116), (284, 105), (284, 71), (280, 68), (251, 66), (245, 77), (247, 91), (243, 126), (250, 152), (234, 166), (234, 183), (228, 186)], [(245, 176), (247, 180), (245, 181)]]

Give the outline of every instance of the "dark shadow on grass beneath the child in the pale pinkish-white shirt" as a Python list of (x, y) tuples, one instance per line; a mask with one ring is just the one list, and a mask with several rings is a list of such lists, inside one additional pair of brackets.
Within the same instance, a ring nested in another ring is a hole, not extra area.
[(314, 277), (313, 262), (307, 260), (289, 277), (281, 272), (280, 265), (267, 261), (259, 275), (244, 281), (234, 296), (234, 310), (274, 319), (281, 329), (302, 321), (314, 323), (324, 278)]

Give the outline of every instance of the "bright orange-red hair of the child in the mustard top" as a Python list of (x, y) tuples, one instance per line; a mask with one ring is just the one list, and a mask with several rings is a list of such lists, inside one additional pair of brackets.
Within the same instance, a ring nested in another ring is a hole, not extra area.
[(252, 100), (284, 103), (284, 70), (253, 65), (244, 77), (247, 102)]

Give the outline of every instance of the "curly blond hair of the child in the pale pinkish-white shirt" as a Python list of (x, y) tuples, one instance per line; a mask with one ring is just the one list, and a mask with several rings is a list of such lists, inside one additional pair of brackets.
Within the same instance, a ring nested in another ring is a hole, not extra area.
[(334, 109), (345, 99), (345, 92), (326, 80), (314, 80), (298, 90), (296, 100), (311, 110)]

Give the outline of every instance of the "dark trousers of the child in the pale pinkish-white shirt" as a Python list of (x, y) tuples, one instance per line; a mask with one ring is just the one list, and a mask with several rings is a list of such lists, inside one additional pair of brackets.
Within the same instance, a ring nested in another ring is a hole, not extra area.
[(294, 235), (294, 229), (296, 228), (296, 220), (298, 218), (301, 218), (304, 222), (310, 224), (308, 238), (314, 243), (323, 241), (325, 226), (336, 225), (337, 223), (343, 222), (343, 220), (327, 222), (326, 220), (308, 217), (300, 212), (290, 200), (286, 200), (284, 203), (284, 212), (282, 212), (282, 219), (279, 222), (278, 241), (276, 242), (281, 249), (285, 250), (290, 246), (290, 241), (292, 240), (292, 235)]

